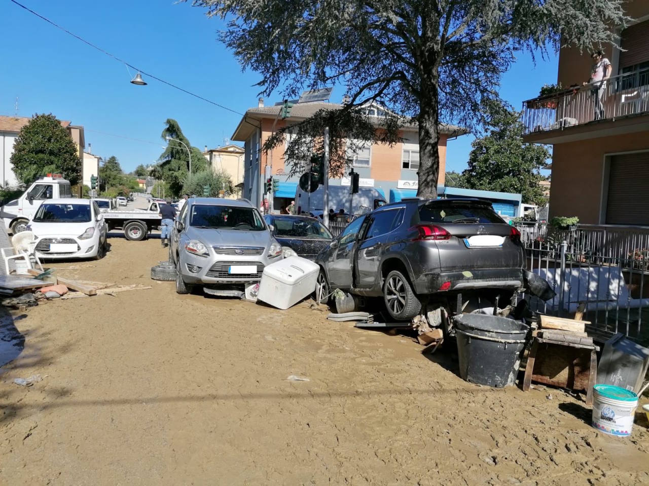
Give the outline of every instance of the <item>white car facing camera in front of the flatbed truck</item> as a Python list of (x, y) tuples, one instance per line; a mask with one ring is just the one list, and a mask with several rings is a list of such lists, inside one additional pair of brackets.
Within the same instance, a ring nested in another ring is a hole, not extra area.
[(36, 254), (42, 259), (99, 260), (106, 253), (106, 222), (92, 200), (43, 202), (27, 229), (36, 235)]

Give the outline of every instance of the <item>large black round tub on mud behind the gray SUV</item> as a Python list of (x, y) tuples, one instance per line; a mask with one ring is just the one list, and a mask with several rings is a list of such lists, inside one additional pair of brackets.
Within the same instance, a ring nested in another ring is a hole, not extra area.
[(454, 321), (459, 375), (496, 388), (513, 385), (530, 328), (520, 321), (485, 314), (461, 314)]

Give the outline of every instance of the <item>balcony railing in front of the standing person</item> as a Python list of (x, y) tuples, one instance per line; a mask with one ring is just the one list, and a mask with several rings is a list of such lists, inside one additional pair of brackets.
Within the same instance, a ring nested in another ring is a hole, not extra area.
[[(601, 86), (601, 87), (600, 87)], [(649, 68), (523, 102), (525, 134), (649, 111)]]

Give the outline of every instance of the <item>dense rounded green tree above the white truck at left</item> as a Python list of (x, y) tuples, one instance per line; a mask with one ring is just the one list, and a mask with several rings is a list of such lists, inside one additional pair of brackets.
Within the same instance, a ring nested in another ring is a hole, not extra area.
[(29, 185), (49, 172), (62, 174), (71, 185), (79, 182), (81, 159), (72, 137), (51, 113), (35, 115), (21, 128), (11, 156), (16, 178)]

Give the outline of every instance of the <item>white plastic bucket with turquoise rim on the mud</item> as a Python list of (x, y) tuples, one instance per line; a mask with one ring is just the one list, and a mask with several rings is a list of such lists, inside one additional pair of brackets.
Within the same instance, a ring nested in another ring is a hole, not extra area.
[(631, 435), (638, 395), (614, 385), (593, 387), (593, 427), (604, 434)]

